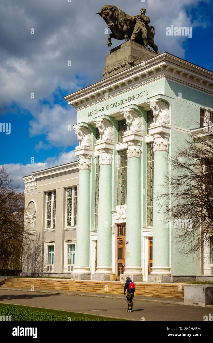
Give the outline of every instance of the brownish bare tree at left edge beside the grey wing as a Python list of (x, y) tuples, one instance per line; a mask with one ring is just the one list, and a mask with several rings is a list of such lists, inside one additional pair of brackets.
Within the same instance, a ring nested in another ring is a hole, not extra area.
[(21, 269), (24, 192), (14, 187), (6, 168), (0, 168), (0, 269)]

